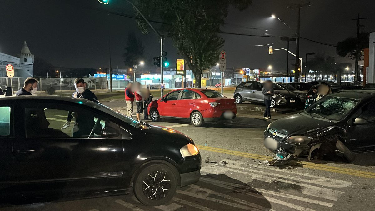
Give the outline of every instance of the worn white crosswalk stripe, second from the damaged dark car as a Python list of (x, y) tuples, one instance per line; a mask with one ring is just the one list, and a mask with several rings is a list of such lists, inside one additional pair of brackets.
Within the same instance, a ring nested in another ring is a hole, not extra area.
[[(241, 181), (246, 183), (246, 184), (248, 182), (252, 182), (252, 179), (257, 179), (257, 180), (264, 181), (264, 182), (273, 182), (273, 181), (285, 182), (285, 183), (305, 187), (305, 190), (303, 190), (303, 192), (302, 192), (303, 194), (321, 197), (321, 198), (334, 200), (334, 201), (337, 201), (339, 199), (339, 197), (341, 196), (341, 194), (344, 193), (342, 191), (332, 190), (332, 189), (329, 189), (329, 188), (322, 188), (322, 187), (308, 185), (308, 184), (304, 184), (304, 183), (300, 183), (300, 182), (288, 181), (287, 179), (279, 179), (279, 178), (270, 177), (270, 176), (266, 176), (266, 175), (263, 176), (263, 175), (258, 175), (258, 174), (255, 174), (255, 173), (246, 172), (250, 169), (241, 168), (241, 167), (236, 167), (238, 169), (241, 169), (241, 170), (236, 170), (236, 169), (230, 169), (230, 168), (217, 166), (217, 165), (208, 165), (208, 166), (202, 167), (201, 172), (208, 172), (208, 173), (212, 172), (212, 173), (214, 173), (217, 170), (211, 170), (211, 169), (217, 169), (217, 168), (223, 169), (223, 170), (221, 170), (222, 172), (225, 172), (225, 170), (226, 170), (226, 171), (237, 172), (237, 173), (241, 173), (241, 174), (246, 175), (247, 177), (241, 178)], [(242, 170), (246, 170), (246, 171), (242, 171)], [(262, 173), (262, 174), (269, 174), (268, 172), (261, 172), (261, 171), (255, 171), (255, 172), (256, 173)], [(280, 175), (278, 175), (278, 176), (280, 176)]]

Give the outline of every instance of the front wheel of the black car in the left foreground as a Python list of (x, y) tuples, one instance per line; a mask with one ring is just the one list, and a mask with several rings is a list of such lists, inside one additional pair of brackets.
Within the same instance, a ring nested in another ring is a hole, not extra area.
[(168, 165), (150, 164), (144, 166), (135, 176), (133, 192), (142, 204), (159, 206), (172, 199), (177, 184), (177, 175)]

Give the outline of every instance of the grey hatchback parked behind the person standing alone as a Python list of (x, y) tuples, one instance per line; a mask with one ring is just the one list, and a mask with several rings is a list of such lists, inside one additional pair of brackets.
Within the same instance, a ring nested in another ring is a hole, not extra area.
[[(250, 102), (264, 102), (263, 94), (263, 82), (261, 81), (245, 81), (240, 83), (234, 91), (234, 99), (237, 103), (244, 101)], [(301, 105), (299, 96), (296, 93), (285, 89), (285, 87), (279, 84), (274, 84), (273, 91), (275, 93), (271, 100), (271, 107), (276, 105), (284, 105), (288, 107), (298, 107)]]

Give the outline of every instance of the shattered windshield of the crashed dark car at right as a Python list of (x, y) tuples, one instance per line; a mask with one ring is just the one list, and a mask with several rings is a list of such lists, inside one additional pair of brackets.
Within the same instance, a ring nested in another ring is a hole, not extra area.
[(305, 110), (313, 118), (323, 118), (333, 121), (343, 119), (357, 105), (358, 99), (326, 96)]

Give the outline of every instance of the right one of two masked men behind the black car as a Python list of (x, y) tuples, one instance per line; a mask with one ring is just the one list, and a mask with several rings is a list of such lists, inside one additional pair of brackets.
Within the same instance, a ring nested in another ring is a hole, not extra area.
[[(74, 83), (75, 83), (75, 92), (73, 93), (72, 97), (84, 98), (84, 99), (88, 99), (94, 102), (99, 102), (98, 98), (92, 91), (90, 91), (89, 89), (85, 89), (86, 86), (85, 86), (85, 81), (83, 80), (83, 78), (76, 78), (74, 80)], [(63, 125), (62, 129), (65, 129), (70, 126), (73, 117), (75, 117), (76, 119), (75, 128), (77, 128), (77, 130), (73, 130), (74, 137), (80, 136), (78, 134), (83, 134), (83, 132), (86, 133), (87, 131), (91, 130), (94, 126), (93, 117), (86, 116), (84, 114), (78, 114), (77, 112), (69, 112), (68, 118), (66, 118), (66, 122)], [(75, 133), (77, 134), (77, 136), (75, 136)]]

